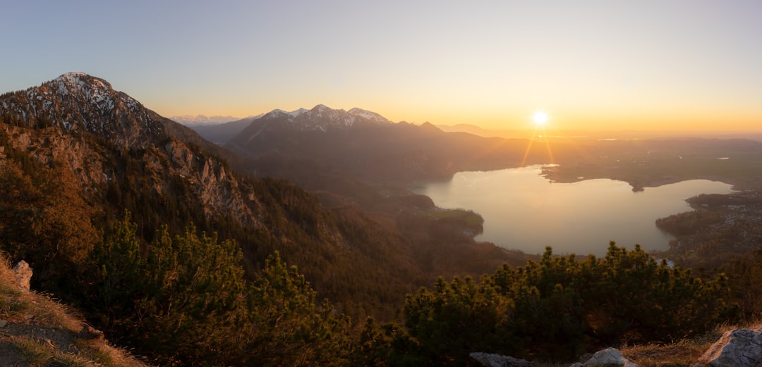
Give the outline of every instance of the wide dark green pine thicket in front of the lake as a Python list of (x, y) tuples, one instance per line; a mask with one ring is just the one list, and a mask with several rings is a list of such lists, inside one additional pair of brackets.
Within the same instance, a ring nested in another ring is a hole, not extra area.
[(408, 296), (405, 325), (431, 365), (469, 352), (565, 359), (591, 346), (670, 341), (727, 317), (725, 279), (703, 280), (613, 242), (604, 258), (553, 257), (502, 266), (477, 283), (437, 280)]

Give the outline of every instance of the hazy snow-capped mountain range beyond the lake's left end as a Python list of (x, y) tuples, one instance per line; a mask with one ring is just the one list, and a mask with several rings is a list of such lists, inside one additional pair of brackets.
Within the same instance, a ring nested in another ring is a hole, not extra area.
[(248, 159), (250, 174), (288, 177), (308, 186), (297, 177), (304, 176), (303, 168), (289, 171), (288, 162), (309, 161), (324, 167), (314, 171), (328, 167), (366, 182), (450, 177), (457, 171), (551, 162), (546, 149), (537, 145), (528, 150), (528, 146), (528, 139), (447, 133), (431, 123), (392, 123), (367, 110), (323, 105), (274, 110), (225, 145)]

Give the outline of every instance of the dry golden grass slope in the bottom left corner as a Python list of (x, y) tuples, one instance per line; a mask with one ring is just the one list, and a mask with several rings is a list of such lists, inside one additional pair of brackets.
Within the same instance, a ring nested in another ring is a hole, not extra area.
[(0, 254), (0, 365), (146, 367), (124, 349), (80, 333), (82, 318), (50, 295), (24, 292)]

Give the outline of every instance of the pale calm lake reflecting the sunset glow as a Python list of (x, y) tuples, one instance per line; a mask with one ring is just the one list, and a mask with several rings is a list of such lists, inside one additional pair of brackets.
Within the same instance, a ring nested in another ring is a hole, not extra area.
[(552, 183), (542, 166), (459, 172), (450, 180), (419, 181), (411, 190), (441, 208), (463, 208), (484, 218), (477, 241), (539, 254), (606, 253), (609, 241), (646, 251), (665, 250), (672, 238), (656, 219), (692, 210), (685, 199), (700, 193), (731, 193), (731, 185), (687, 180), (632, 192), (629, 183), (608, 179)]

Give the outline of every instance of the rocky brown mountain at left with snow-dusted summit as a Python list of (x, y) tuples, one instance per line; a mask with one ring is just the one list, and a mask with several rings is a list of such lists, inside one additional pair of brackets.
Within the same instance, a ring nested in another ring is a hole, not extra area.
[(68, 161), (89, 193), (131, 183), (135, 172), (126, 161), (139, 158), (136, 179), (145, 181), (149, 193), (171, 197), (179, 184), (203, 203), (207, 215), (232, 215), (242, 225), (258, 225), (240, 178), (213, 157), (226, 155), (222, 149), (101, 78), (64, 74), (39, 87), (3, 94), (0, 107), (0, 116), (15, 125), (11, 131), (27, 136), (12, 139), (15, 148), (34, 147), (42, 161)]

